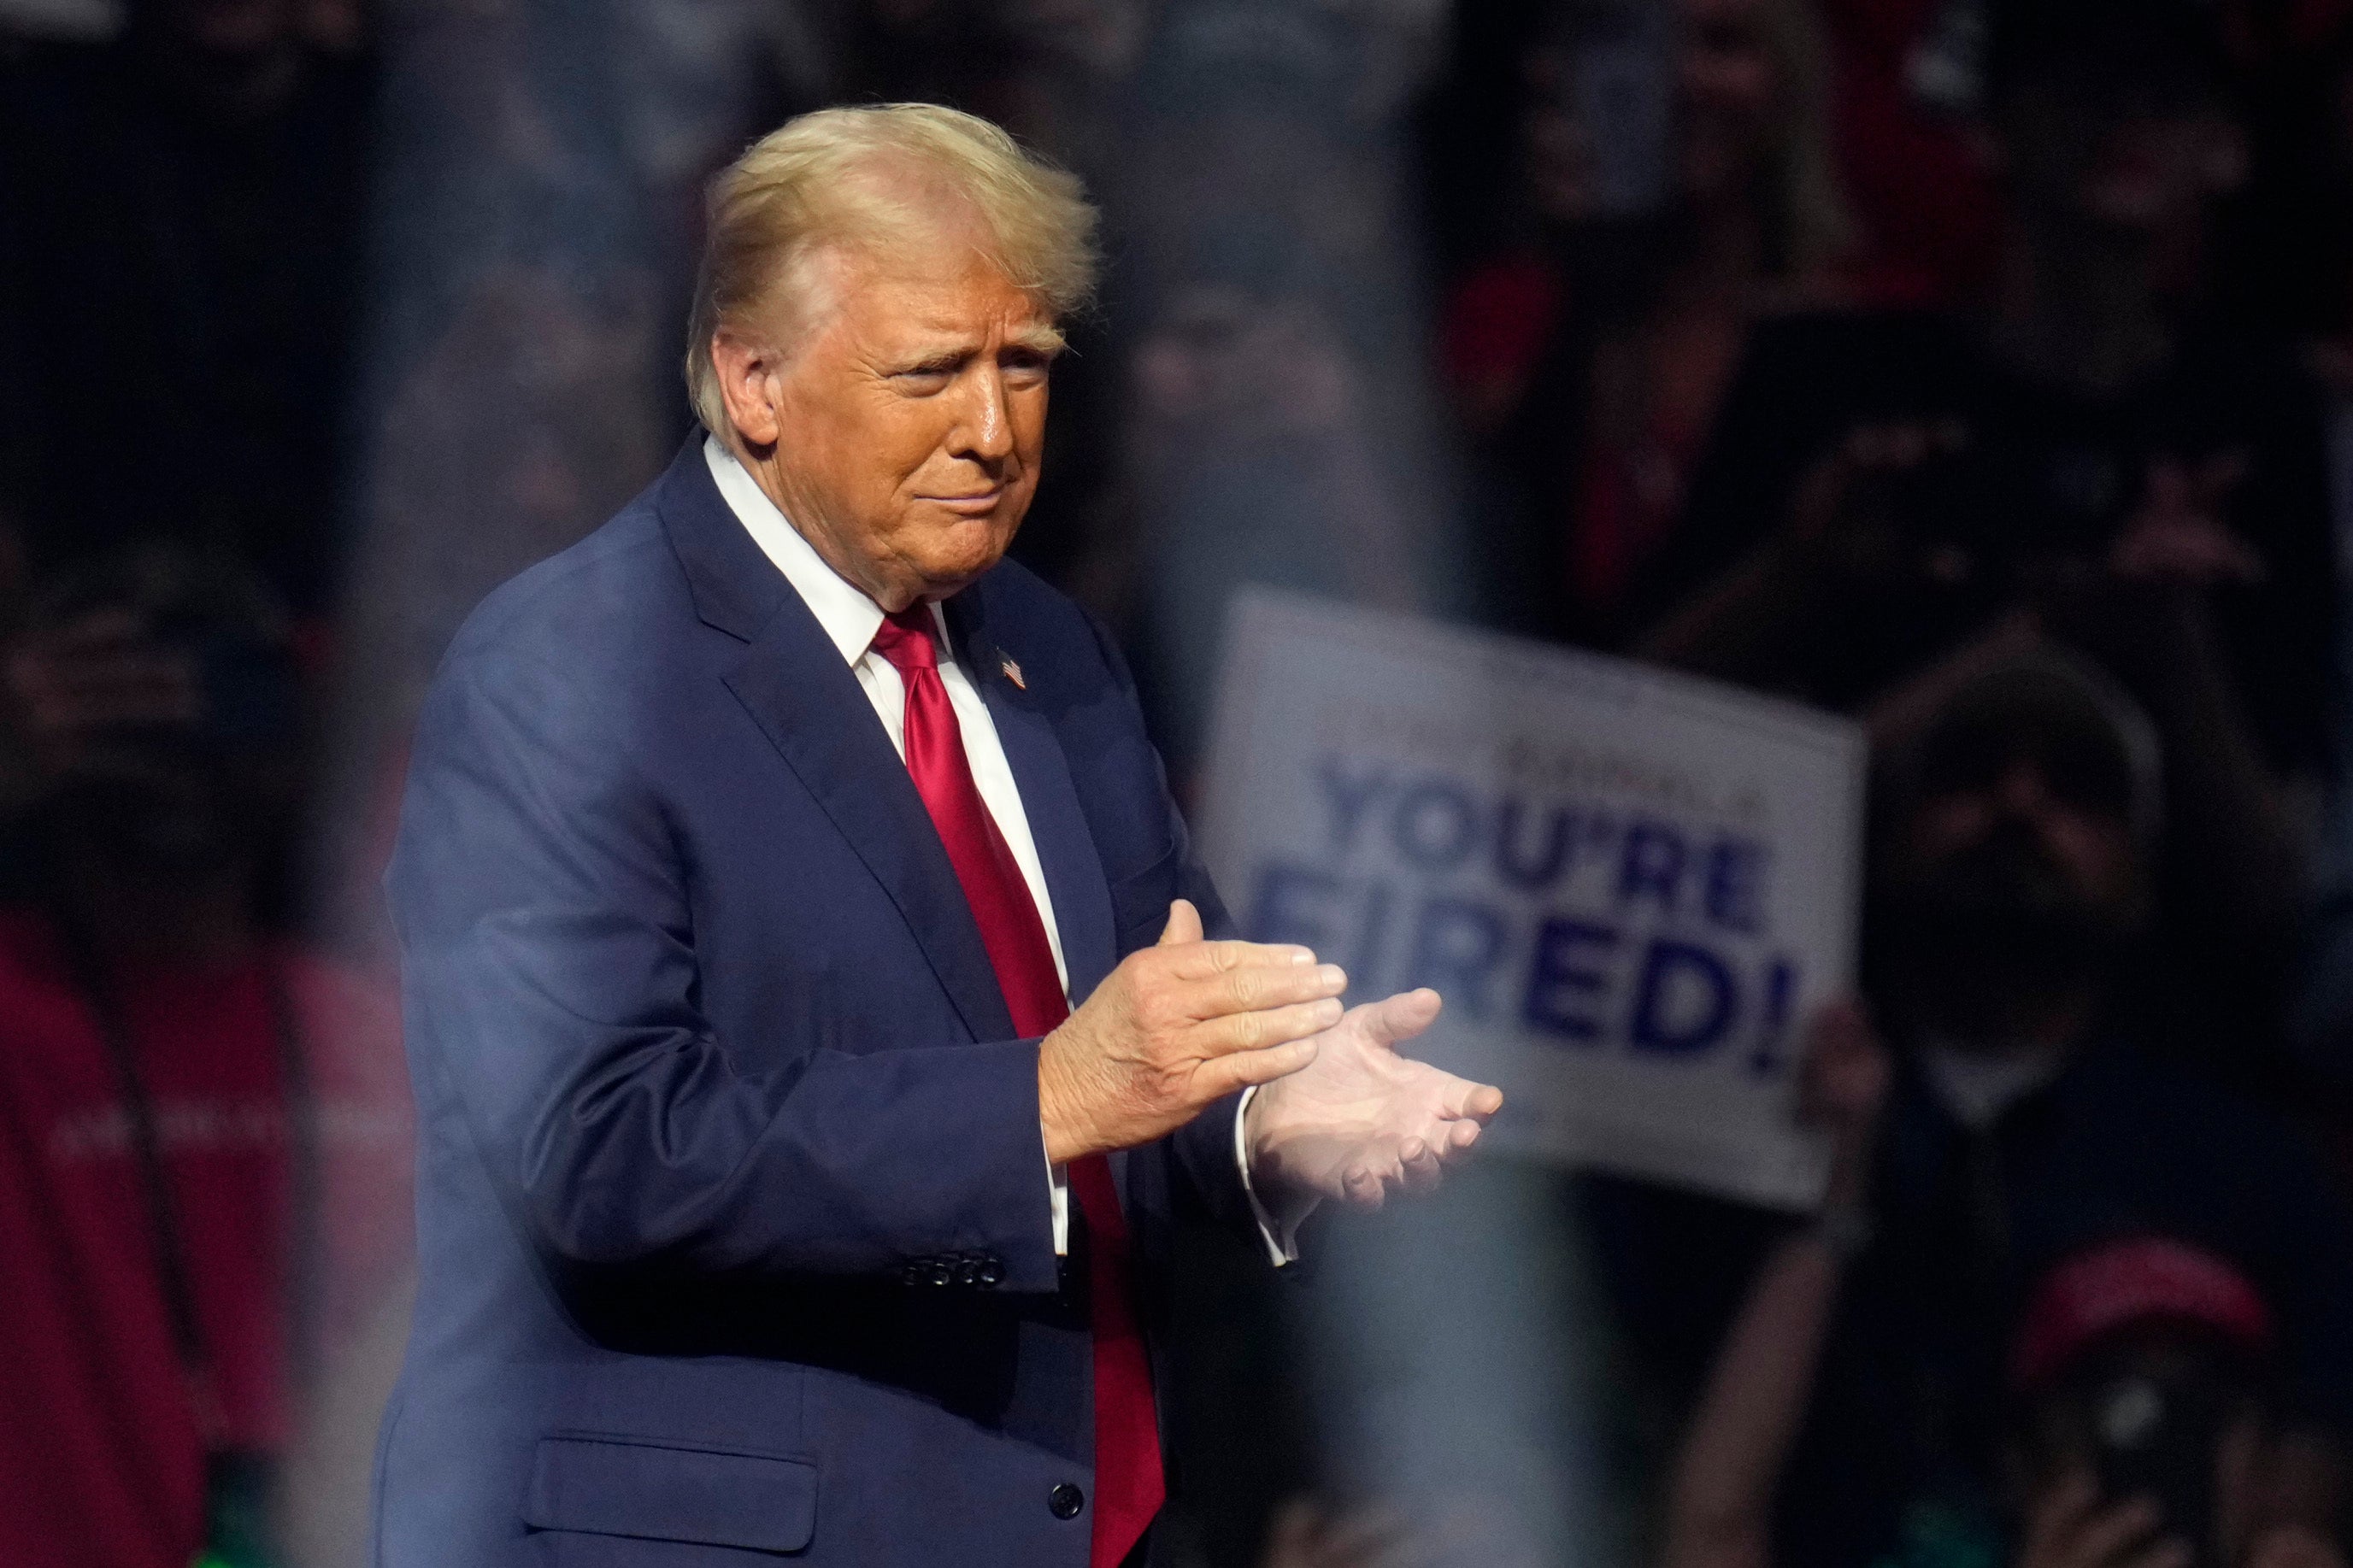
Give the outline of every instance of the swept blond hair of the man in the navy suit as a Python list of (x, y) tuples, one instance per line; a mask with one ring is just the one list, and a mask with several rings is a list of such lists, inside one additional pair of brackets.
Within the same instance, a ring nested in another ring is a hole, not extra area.
[[(911, 176), (911, 179), (908, 179)], [(941, 197), (979, 219), (981, 256), (1049, 317), (1094, 296), (1096, 212), (1075, 174), (1000, 127), (939, 103), (821, 108), (772, 129), (708, 193), (687, 322), (687, 395), (727, 440), (711, 336), (769, 303), (828, 247), (936, 244)]]

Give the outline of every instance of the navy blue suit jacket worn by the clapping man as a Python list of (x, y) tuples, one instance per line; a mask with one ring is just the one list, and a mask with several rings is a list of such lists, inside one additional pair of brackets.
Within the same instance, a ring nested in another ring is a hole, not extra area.
[[(946, 614), (1071, 992), (1176, 896), (1221, 929), (1106, 635), (1014, 564)], [(1092, 1368), (1038, 1041), (699, 442), (468, 618), (388, 886), (421, 1279), (384, 1568), (1085, 1563), (1089, 1509), (1049, 1505), (1092, 1493)], [(1188, 1213), (1247, 1225), (1231, 1117), (1113, 1159), (1146, 1286)]]

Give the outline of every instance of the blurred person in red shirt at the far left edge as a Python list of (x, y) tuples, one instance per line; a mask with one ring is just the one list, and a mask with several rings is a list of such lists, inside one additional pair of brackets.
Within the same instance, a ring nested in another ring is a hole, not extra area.
[(35, 592), (5, 696), (0, 1561), (271, 1561), (299, 1373), (409, 1251), (391, 1009), (273, 922), (292, 644), (148, 550)]

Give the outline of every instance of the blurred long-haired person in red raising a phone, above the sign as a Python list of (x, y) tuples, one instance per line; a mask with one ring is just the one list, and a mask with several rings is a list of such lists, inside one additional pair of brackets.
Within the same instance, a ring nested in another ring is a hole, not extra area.
[(1537, 24), (1525, 233), (1440, 322), (1499, 621), (1619, 649), (1659, 609), (1649, 564), (1753, 324), (1842, 299), (1826, 71), (1795, 0), (1574, 0)]

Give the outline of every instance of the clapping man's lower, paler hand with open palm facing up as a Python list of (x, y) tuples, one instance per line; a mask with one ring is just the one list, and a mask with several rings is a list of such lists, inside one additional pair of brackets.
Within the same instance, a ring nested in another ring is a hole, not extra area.
[(1287, 1229), (1322, 1199), (1379, 1208), (1391, 1190), (1438, 1185), (1504, 1091), (1398, 1056), (1438, 1018), (1438, 992), (1400, 992), (1348, 1009), (1315, 1037), (1315, 1060), (1264, 1084), (1242, 1138), (1249, 1178)]

